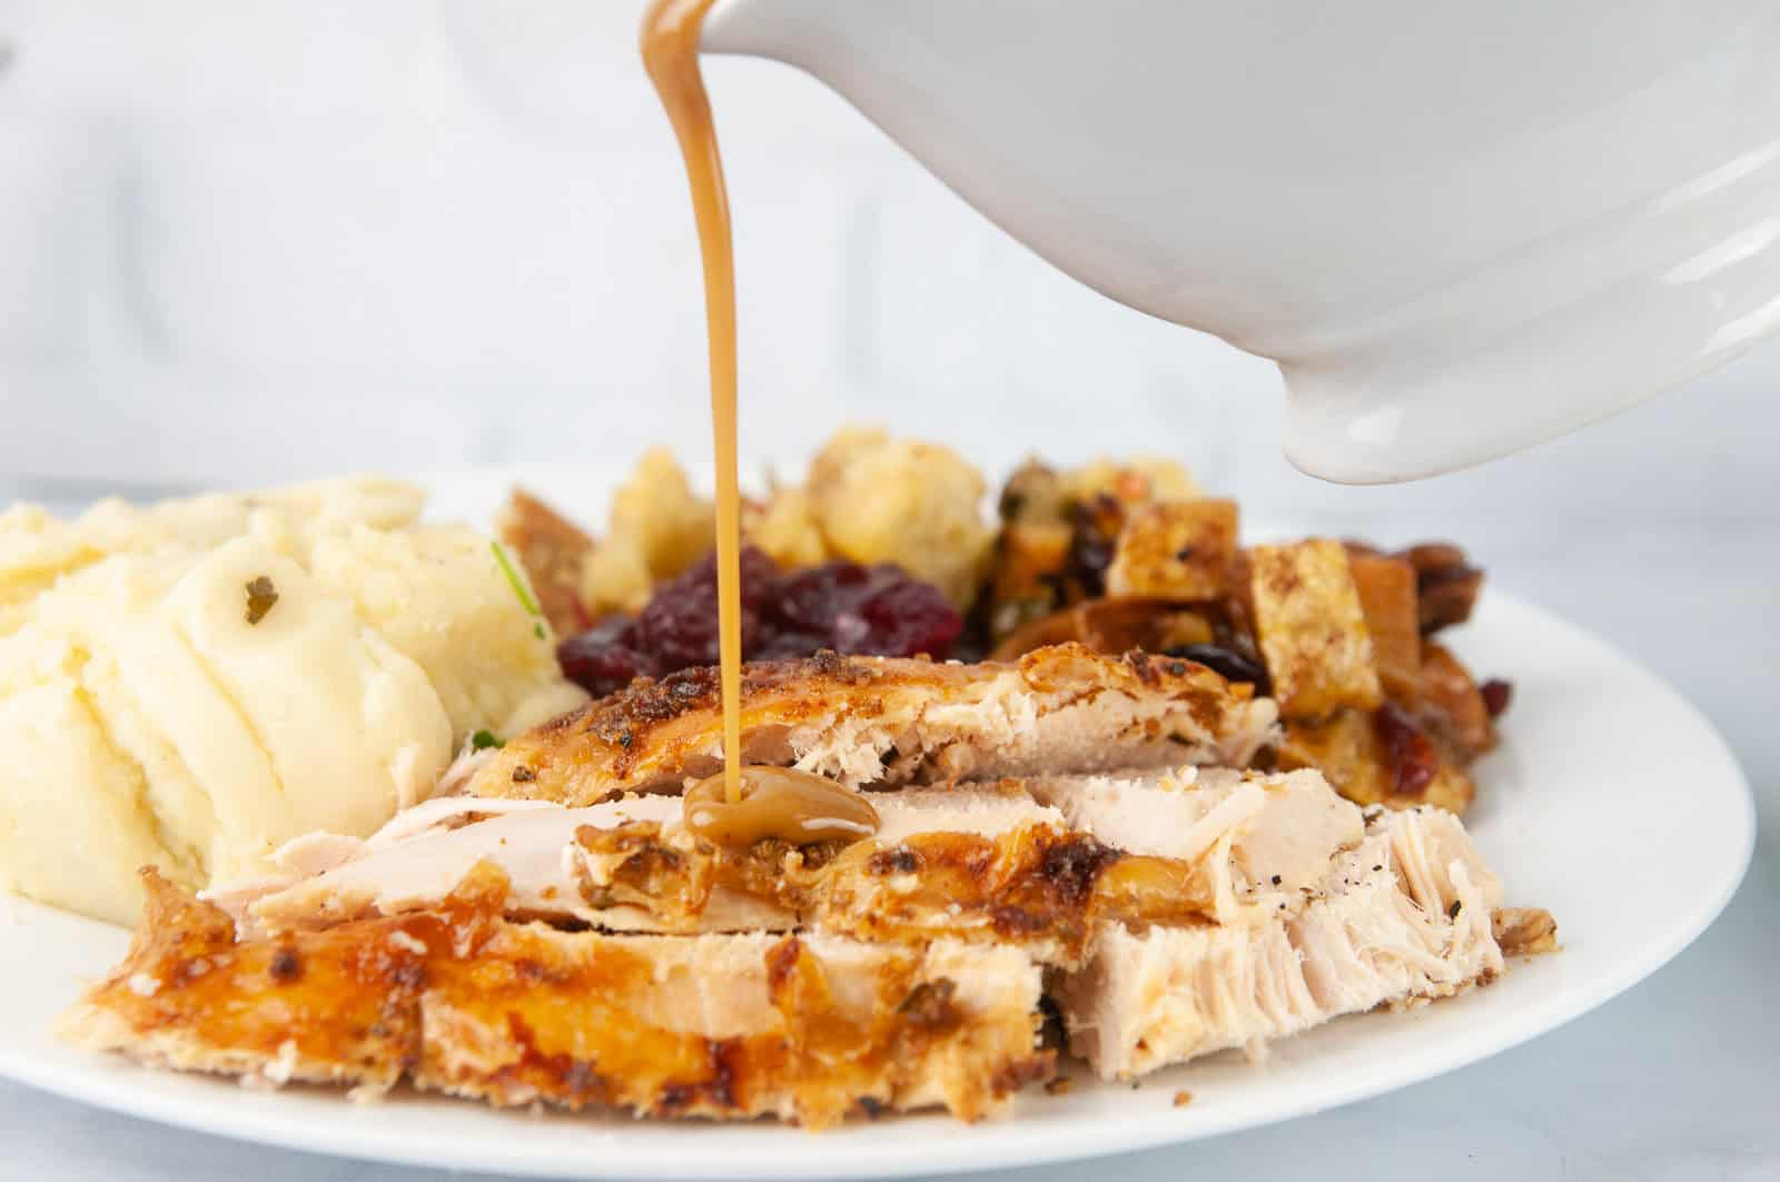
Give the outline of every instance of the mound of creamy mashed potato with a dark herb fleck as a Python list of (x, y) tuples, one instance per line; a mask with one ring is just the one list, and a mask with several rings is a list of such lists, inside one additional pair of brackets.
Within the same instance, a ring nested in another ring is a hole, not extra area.
[(473, 732), (580, 701), (490, 541), (418, 509), (351, 481), (0, 518), (0, 881), (134, 922), (141, 865), (203, 886), (370, 833)]

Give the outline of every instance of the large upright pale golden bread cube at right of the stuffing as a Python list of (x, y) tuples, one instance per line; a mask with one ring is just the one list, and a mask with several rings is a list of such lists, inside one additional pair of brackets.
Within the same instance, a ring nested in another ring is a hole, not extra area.
[(1347, 550), (1330, 538), (1248, 554), (1255, 637), (1283, 717), (1323, 717), (1381, 701)]

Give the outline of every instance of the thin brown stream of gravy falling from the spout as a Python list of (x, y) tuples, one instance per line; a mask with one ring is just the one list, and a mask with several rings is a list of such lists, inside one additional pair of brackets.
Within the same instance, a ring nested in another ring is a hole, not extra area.
[(668, 109), (692, 185), (705, 263), (710, 349), (710, 434), (717, 461), (717, 652), (723, 659), (723, 789), (742, 801), (742, 498), (735, 481), (735, 253), (717, 128), (698, 68), (698, 39), (714, 0), (653, 0), (643, 18), (643, 66)]

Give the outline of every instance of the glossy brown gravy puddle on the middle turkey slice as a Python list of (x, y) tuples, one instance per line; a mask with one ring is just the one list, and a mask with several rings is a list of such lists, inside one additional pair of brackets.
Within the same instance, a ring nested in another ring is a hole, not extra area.
[(728, 799), (723, 776), (685, 794), (685, 828), (716, 846), (748, 847), (767, 837), (792, 846), (856, 842), (879, 824), (863, 794), (790, 767), (744, 767), (739, 801)]

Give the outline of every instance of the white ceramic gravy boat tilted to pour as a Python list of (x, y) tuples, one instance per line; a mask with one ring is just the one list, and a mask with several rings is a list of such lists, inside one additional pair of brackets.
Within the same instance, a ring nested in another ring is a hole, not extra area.
[(717, 0), (1063, 271), (1444, 472), (1780, 328), (1775, 0)]

